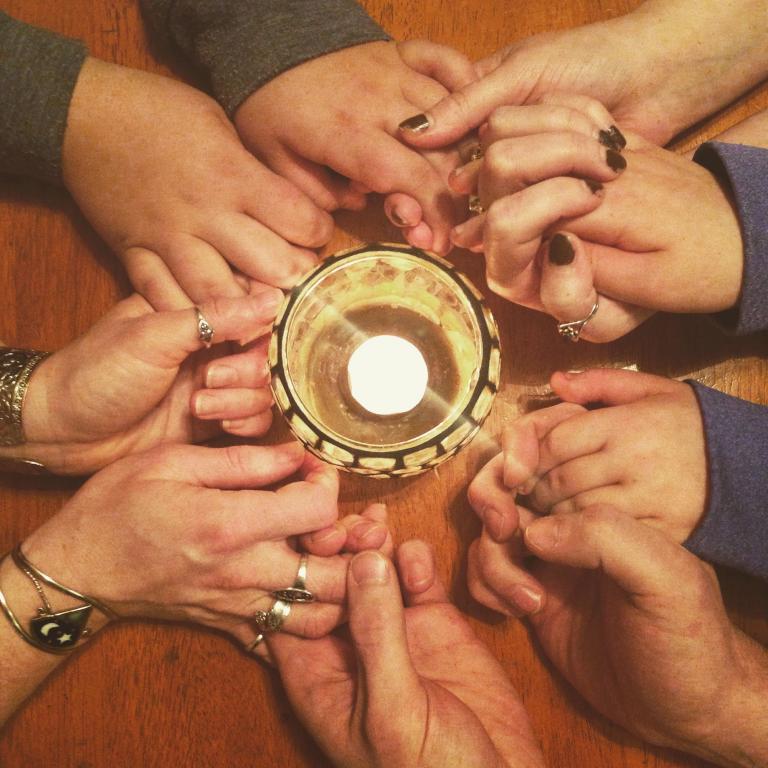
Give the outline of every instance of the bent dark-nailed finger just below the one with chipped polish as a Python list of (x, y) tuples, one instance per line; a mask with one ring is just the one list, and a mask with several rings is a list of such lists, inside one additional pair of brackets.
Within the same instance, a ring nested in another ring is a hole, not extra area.
[(627, 161), (614, 149), (578, 133), (540, 133), (501, 139), (485, 150), (478, 191), (488, 205), (544, 179), (575, 176), (613, 181)]

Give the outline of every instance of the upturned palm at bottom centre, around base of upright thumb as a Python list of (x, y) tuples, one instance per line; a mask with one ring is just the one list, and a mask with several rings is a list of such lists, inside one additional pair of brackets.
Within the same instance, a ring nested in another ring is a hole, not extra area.
[(419, 686), (400, 712), (378, 712), (365, 700), (351, 646), (339, 637), (304, 642), (301, 667), (281, 670), (325, 751), (345, 767), (538, 765), (517, 694), (459, 612), (423, 605), (405, 616)]

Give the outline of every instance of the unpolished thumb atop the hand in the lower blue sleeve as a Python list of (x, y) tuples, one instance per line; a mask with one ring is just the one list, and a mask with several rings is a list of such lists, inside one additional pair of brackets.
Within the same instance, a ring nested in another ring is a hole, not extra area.
[(550, 379), (552, 389), (569, 403), (624, 405), (651, 395), (674, 392), (680, 383), (649, 373), (594, 368), (591, 371), (558, 371)]

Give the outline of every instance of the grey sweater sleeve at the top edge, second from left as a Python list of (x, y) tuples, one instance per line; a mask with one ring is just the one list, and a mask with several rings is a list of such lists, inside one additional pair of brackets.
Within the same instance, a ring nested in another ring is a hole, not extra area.
[(354, 0), (141, 0), (150, 27), (189, 56), (229, 115), (297, 64), (389, 37)]

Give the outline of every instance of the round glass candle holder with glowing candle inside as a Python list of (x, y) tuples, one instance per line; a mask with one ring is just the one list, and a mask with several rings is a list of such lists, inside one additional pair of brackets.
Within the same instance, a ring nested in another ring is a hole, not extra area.
[(358, 474), (416, 475), (488, 416), (499, 336), (450, 263), (373, 244), (325, 259), (291, 291), (269, 362), (275, 402), (309, 451)]

